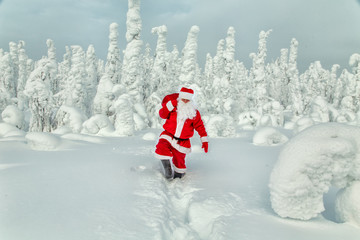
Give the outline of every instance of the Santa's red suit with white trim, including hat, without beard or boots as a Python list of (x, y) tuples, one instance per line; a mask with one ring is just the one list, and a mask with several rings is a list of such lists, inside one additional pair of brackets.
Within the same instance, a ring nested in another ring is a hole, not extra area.
[[(178, 173), (185, 173), (186, 171), (185, 156), (191, 152), (190, 138), (194, 135), (194, 130), (200, 135), (203, 145), (208, 142), (200, 112), (195, 109), (196, 115), (194, 117), (184, 119), (179, 117), (176, 106), (173, 106), (174, 101), (180, 101), (181, 98), (191, 99), (193, 91), (190, 89), (192, 92), (188, 93), (183, 92), (183, 89), (180, 91), (180, 96), (179, 93), (170, 94), (162, 101), (159, 115), (166, 121), (163, 125), (164, 131), (159, 137), (155, 150), (156, 157), (159, 159), (172, 158), (173, 168)], [(205, 151), (207, 152), (207, 145)]]

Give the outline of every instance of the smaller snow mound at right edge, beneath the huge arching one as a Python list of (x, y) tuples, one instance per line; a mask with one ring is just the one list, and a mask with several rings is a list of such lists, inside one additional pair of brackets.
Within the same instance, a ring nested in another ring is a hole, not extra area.
[(336, 219), (360, 227), (360, 182), (339, 191), (335, 202)]

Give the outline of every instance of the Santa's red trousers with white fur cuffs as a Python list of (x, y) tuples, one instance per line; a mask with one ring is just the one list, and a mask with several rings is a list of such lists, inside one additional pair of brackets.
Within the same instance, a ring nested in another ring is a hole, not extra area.
[(156, 145), (156, 157), (159, 159), (171, 159), (173, 162), (174, 170), (178, 173), (185, 173), (185, 153), (181, 153), (176, 150), (171, 144), (165, 139), (159, 139)]

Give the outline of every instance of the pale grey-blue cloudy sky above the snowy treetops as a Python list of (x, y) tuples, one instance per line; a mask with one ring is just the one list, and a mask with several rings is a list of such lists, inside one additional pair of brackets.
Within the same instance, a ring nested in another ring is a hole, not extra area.
[[(0, 48), (24, 40), (30, 58), (47, 54), (46, 39), (54, 40), (58, 61), (65, 46), (93, 44), (106, 59), (109, 25), (119, 24), (119, 47), (125, 49), (127, 0), (0, 0)], [(353, 53), (360, 53), (360, 0), (142, 0), (142, 40), (156, 48), (156, 26), (168, 28), (168, 50), (181, 51), (191, 26), (198, 25), (198, 62), (216, 53), (217, 43), (232, 26), (236, 31), (236, 59), (251, 66), (261, 30), (272, 29), (267, 62), (299, 42), (298, 66), (305, 71), (319, 60), (330, 69), (349, 68)]]

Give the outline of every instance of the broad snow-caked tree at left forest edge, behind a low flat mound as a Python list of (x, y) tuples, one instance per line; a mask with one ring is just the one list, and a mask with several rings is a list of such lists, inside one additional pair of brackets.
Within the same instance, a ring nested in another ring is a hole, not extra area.
[(24, 93), (29, 98), (31, 112), (29, 130), (32, 132), (50, 132), (53, 110), (50, 90), (49, 60), (41, 59), (26, 82)]

